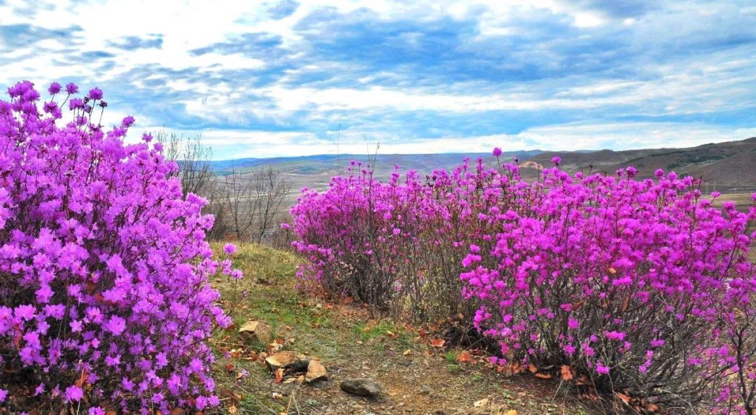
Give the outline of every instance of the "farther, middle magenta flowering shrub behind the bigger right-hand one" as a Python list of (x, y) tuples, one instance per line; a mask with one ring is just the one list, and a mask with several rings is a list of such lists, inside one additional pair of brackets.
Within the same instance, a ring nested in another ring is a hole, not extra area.
[(373, 311), (417, 321), (462, 313), (471, 323), (477, 304), (462, 301), (462, 259), (485, 233), (478, 213), (510, 202), (500, 191), (507, 176), (480, 160), (424, 180), (394, 172), (383, 183), (357, 162), (349, 173), (324, 192), (303, 190), (291, 210), (293, 246), (309, 259), (299, 277)]

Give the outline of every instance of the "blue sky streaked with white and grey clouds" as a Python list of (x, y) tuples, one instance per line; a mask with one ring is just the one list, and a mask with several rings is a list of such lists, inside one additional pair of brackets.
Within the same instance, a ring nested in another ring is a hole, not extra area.
[(691, 147), (756, 136), (756, 3), (0, 0), (23, 79), (214, 159)]

